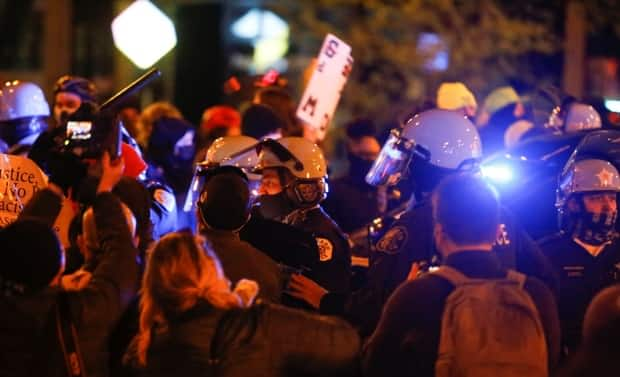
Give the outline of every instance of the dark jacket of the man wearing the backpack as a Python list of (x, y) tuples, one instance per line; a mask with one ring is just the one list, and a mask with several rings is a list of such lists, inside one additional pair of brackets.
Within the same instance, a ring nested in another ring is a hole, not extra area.
[[(484, 251), (463, 251), (445, 264), (471, 278), (506, 276), (499, 260)], [(537, 279), (528, 278), (524, 289), (540, 314), (547, 340), (550, 366), (559, 355), (560, 330), (551, 291)], [(402, 284), (387, 302), (377, 329), (363, 352), (366, 376), (434, 376), (441, 319), (454, 285), (442, 277), (426, 274)], [(508, 325), (508, 324), (507, 324)]]

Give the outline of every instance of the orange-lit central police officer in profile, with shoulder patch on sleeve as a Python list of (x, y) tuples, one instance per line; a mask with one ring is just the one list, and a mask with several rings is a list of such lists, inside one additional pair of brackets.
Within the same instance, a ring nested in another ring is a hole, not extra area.
[(323, 211), (327, 165), (323, 152), (301, 137), (261, 143), (255, 172), (262, 175), (258, 213), (314, 234), (318, 260), (308, 274), (335, 292), (347, 292), (351, 250), (338, 225)]

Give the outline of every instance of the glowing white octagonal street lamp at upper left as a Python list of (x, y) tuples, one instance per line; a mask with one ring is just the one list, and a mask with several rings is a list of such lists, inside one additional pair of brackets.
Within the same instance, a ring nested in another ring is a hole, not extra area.
[(174, 24), (148, 0), (136, 0), (112, 21), (112, 37), (114, 45), (142, 69), (177, 44)]

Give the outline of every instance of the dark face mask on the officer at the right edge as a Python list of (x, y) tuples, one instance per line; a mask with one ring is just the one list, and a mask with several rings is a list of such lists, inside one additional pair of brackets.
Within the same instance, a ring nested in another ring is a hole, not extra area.
[(573, 215), (572, 234), (590, 245), (602, 245), (611, 241), (615, 234), (617, 212), (596, 214), (579, 212)]

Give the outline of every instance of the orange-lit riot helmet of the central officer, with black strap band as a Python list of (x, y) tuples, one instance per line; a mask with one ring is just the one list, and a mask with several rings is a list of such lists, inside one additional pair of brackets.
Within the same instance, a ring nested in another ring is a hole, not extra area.
[(290, 173), (293, 183), (284, 189), (297, 207), (309, 208), (325, 199), (327, 163), (316, 144), (302, 137), (284, 137), (261, 142), (259, 150), (255, 172), (276, 168)]

